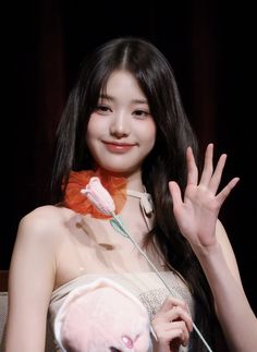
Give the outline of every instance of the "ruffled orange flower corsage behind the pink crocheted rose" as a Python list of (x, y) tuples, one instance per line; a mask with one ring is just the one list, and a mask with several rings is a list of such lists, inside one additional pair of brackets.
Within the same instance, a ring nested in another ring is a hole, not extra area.
[(113, 177), (98, 169), (97, 171), (71, 171), (65, 190), (64, 205), (83, 215), (90, 214), (98, 219), (110, 219), (111, 216), (100, 213), (81, 191), (89, 183), (93, 177), (98, 177), (105, 189), (110, 193), (119, 214), (126, 202), (126, 179)]

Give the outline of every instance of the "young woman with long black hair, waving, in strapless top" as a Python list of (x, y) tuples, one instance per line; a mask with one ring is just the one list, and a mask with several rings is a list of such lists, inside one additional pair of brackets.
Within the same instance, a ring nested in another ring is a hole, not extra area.
[[(98, 278), (144, 303), (157, 352), (206, 351), (194, 326), (213, 351), (219, 327), (231, 351), (257, 350), (256, 317), (218, 219), (238, 179), (218, 190), (227, 156), (213, 166), (212, 144), (199, 163), (172, 69), (152, 44), (118, 38), (87, 58), (56, 150), (54, 205), (26, 215), (17, 231), (7, 352), (42, 352), (48, 314), (54, 321), (65, 296)], [(81, 192), (91, 177), (174, 294)]]

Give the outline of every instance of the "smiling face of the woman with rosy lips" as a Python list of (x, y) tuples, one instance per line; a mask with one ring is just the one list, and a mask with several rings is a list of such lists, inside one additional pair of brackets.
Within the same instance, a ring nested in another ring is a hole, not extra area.
[(93, 158), (105, 170), (140, 171), (156, 139), (156, 124), (134, 76), (114, 71), (88, 122), (86, 141)]

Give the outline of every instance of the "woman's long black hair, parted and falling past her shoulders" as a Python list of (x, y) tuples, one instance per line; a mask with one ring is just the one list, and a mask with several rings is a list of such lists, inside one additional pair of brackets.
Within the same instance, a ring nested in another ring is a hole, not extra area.
[[(169, 267), (185, 279), (196, 302), (195, 323), (207, 341), (212, 343), (216, 317), (211, 291), (194, 252), (180, 233), (168, 190), (170, 180), (179, 183), (182, 194), (185, 190), (185, 151), (188, 146), (193, 148), (200, 168), (197, 138), (184, 111), (171, 65), (148, 40), (134, 37), (112, 39), (98, 47), (83, 63), (57, 131), (51, 180), (53, 202), (63, 201), (63, 182), (65, 185), (71, 170), (94, 167), (86, 145), (88, 120), (109, 76), (120, 69), (136, 78), (157, 128), (156, 144), (143, 165), (143, 182), (152, 195), (156, 214), (155, 227), (146, 236), (145, 244), (155, 244)], [(205, 351), (195, 332), (191, 350)]]

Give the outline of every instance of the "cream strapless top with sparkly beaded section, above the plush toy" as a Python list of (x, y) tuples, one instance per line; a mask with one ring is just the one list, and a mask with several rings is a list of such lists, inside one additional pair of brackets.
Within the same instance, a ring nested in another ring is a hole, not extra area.
[[(161, 271), (160, 276), (169, 287), (173, 296), (183, 300), (192, 314), (194, 320), (194, 300), (184, 281), (171, 271)], [(49, 305), (49, 320), (53, 326), (54, 317), (64, 302), (66, 295), (74, 289), (88, 284), (96, 279), (108, 278), (113, 280), (124, 289), (130, 291), (146, 306), (150, 319), (160, 308), (170, 291), (154, 271), (147, 272), (110, 272), (110, 274), (85, 274), (59, 287), (52, 292)], [(181, 347), (180, 352), (187, 351), (187, 348)]]

